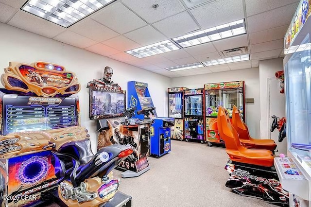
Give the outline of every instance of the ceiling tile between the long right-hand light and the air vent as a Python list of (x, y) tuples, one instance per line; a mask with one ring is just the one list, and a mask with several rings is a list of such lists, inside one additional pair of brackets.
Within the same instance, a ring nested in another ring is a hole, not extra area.
[(213, 42), (214, 47), (218, 51), (243, 47), (248, 45), (247, 35), (240, 35), (235, 37), (226, 38)]

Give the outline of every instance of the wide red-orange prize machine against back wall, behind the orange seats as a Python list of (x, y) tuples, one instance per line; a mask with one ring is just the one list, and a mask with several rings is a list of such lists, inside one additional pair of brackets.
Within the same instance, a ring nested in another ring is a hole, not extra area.
[(225, 107), (230, 118), (233, 105), (238, 106), (245, 122), (244, 81), (205, 84), (204, 89), (206, 141), (209, 146), (212, 146), (212, 143), (225, 144), (217, 129), (218, 106)]

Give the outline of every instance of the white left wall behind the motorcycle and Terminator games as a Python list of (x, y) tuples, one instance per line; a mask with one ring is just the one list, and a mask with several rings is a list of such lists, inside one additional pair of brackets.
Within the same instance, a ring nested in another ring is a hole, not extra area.
[(89, 130), (93, 151), (97, 146), (96, 123), (88, 119), (86, 83), (103, 77), (105, 66), (114, 70), (112, 80), (119, 83), (123, 90), (127, 90), (128, 81), (148, 83), (158, 116), (168, 114), (167, 88), (170, 78), (0, 23), (0, 68), (8, 67), (9, 62), (30, 64), (36, 61), (56, 63), (76, 73), (82, 86), (78, 93), (81, 125)]

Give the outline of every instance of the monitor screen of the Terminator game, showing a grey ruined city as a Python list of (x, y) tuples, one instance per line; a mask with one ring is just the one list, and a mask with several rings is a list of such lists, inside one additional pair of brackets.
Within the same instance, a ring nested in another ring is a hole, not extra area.
[(97, 116), (113, 117), (125, 111), (125, 94), (90, 90), (89, 119)]

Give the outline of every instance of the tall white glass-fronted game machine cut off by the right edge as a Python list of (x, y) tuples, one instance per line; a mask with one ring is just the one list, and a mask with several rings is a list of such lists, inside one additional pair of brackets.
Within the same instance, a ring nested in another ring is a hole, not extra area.
[[(311, 0), (300, 0), (284, 38), (287, 157), (274, 159), (290, 206), (311, 207)], [(281, 156), (281, 155), (280, 155)]]

